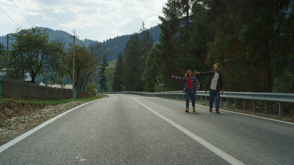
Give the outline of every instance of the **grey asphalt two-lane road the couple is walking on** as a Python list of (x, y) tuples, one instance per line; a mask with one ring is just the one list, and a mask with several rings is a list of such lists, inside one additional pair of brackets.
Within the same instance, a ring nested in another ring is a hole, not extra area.
[(184, 102), (163, 98), (110, 96), (3, 150), (0, 164), (294, 164), (293, 124), (201, 106), (185, 113)]

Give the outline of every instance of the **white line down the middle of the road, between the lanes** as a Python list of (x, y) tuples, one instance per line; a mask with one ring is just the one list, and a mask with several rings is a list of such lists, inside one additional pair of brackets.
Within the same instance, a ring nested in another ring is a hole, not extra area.
[(169, 124), (175, 126), (177, 129), (179, 129), (179, 131), (182, 131), (183, 133), (185, 133), (189, 137), (192, 137), (193, 140), (199, 142), (200, 144), (202, 144), (203, 146), (205, 146), (206, 148), (208, 148), (210, 151), (212, 151), (216, 155), (219, 155), (219, 157), (222, 157), (222, 159), (226, 160), (226, 162), (228, 162), (230, 164), (234, 164), (234, 165), (235, 164), (238, 164), (238, 165), (242, 165), (243, 164), (242, 162), (240, 162), (239, 160), (235, 159), (231, 155), (228, 155), (228, 153), (225, 153), (224, 151), (220, 150), (216, 146), (213, 146), (213, 144), (210, 144), (209, 142), (207, 142), (206, 140), (202, 139), (201, 137), (199, 137), (199, 136), (195, 135), (194, 133), (188, 131), (183, 126), (180, 126), (179, 124), (173, 122), (172, 120), (164, 117), (163, 115), (157, 113), (153, 109), (150, 109), (149, 107), (146, 107), (144, 104), (142, 104), (141, 102), (139, 102), (137, 99), (135, 99), (135, 98), (133, 98), (133, 99), (136, 102), (138, 102), (139, 104), (141, 104), (141, 106), (145, 107), (146, 109), (148, 109), (149, 111), (151, 111), (152, 113), (154, 113), (155, 115), (157, 115), (159, 118), (161, 118), (161, 119), (165, 120), (166, 122), (168, 122)]

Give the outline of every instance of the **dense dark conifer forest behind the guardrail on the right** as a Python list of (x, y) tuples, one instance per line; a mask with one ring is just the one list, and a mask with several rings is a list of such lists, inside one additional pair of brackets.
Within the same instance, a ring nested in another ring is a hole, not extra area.
[[(225, 91), (293, 93), (293, 1), (168, 0), (160, 43), (133, 34), (114, 67), (115, 91), (180, 90), (171, 79), (219, 63)], [(202, 89), (206, 78), (197, 77)]]

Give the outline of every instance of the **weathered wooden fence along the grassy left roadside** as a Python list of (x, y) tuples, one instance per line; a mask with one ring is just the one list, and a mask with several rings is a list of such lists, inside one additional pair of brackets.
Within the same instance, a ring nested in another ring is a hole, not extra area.
[[(60, 89), (34, 83), (0, 77), (0, 97), (35, 100), (61, 100), (72, 98), (72, 89)], [(77, 98), (89, 98), (90, 94), (78, 91)]]

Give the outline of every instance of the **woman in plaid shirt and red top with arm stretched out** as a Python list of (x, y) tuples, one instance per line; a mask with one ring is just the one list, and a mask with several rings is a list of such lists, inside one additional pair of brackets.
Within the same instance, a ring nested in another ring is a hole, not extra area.
[(197, 78), (195, 74), (189, 69), (185, 74), (185, 77), (172, 76), (173, 79), (179, 80), (185, 83), (183, 93), (186, 96), (186, 112), (189, 112), (189, 98), (192, 100), (193, 111), (195, 111), (195, 92), (200, 89)]

